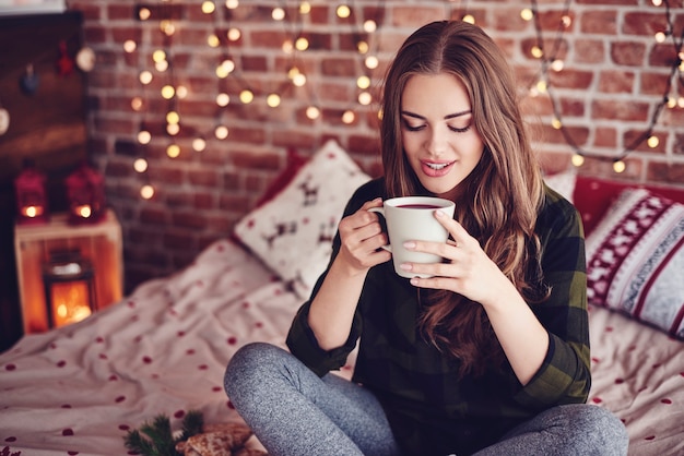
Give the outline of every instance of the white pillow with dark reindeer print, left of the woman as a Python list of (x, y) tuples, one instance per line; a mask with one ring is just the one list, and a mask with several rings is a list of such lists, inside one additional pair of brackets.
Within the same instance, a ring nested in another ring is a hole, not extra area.
[(328, 265), (349, 199), (369, 179), (330, 140), (279, 194), (240, 219), (235, 235), (306, 299)]

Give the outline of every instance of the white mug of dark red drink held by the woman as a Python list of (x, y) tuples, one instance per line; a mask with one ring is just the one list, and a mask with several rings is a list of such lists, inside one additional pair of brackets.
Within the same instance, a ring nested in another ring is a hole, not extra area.
[(452, 201), (433, 196), (402, 196), (385, 200), (382, 207), (368, 211), (381, 214), (387, 221), (389, 244), (382, 249), (392, 252), (394, 271), (401, 277), (432, 277), (416, 274), (399, 267), (402, 263), (440, 263), (441, 257), (432, 253), (415, 252), (404, 249), (406, 241), (446, 242), (449, 232), (435, 218), (435, 211), (440, 209), (453, 217), (456, 205)]

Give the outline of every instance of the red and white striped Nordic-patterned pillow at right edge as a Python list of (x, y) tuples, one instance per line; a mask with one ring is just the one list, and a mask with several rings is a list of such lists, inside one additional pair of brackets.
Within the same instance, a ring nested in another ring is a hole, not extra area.
[(587, 237), (590, 304), (684, 339), (684, 205), (624, 190)]

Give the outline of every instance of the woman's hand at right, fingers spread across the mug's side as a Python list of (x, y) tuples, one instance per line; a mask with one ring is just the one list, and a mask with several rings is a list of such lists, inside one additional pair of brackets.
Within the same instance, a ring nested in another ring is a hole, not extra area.
[(455, 219), (441, 211), (435, 217), (449, 231), (447, 243), (409, 241), (408, 250), (433, 253), (446, 259), (446, 263), (404, 263), (401, 267), (416, 274), (431, 274), (432, 278), (413, 278), (411, 284), (422, 288), (451, 290), (486, 305), (494, 302), (503, 291), (512, 286), (498, 266), (482, 250), (477, 240)]

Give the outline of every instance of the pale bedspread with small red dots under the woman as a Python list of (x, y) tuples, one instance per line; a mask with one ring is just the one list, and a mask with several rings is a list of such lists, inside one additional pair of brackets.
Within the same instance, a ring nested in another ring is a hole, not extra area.
[[(241, 345), (283, 346), (300, 299), (255, 256), (215, 242), (86, 321), (24, 337), (0, 356), (0, 454), (125, 455), (160, 413), (237, 421), (223, 372)], [(590, 400), (624, 420), (630, 454), (684, 454), (684, 345), (592, 309)], [(351, 373), (351, 367), (343, 372)]]

